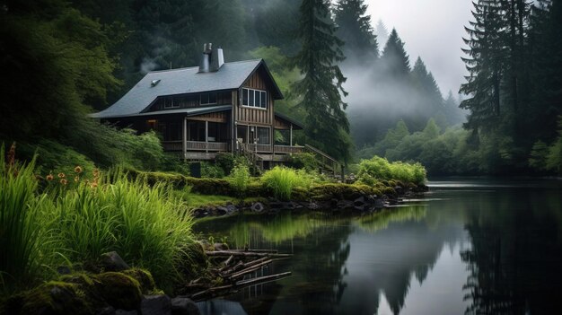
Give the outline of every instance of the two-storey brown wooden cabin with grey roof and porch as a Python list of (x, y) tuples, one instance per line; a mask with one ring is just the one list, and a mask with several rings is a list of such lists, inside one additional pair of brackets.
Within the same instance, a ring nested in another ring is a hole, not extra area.
[(154, 129), (164, 151), (186, 160), (239, 152), (270, 164), (305, 150), (293, 143), (293, 131), (303, 126), (275, 111), (282, 99), (264, 60), (224, 63), (223, 49), (208, 44), (199, 66), (150, 72), (92, 118), (139, 132)]

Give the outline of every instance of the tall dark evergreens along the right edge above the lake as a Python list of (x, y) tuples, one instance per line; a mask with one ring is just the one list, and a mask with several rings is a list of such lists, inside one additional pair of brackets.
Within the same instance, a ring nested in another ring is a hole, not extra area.
[[(479, 162), (505, 172), (559, 173), (562, 4), (479, 1), (473, 16), (463, 59), (470, 75), (461, 85), (470, 97), (461, 107), (470, 110), (469, 143), (492, 147)], [(548, 161), (553, 155), (556, 161)]]

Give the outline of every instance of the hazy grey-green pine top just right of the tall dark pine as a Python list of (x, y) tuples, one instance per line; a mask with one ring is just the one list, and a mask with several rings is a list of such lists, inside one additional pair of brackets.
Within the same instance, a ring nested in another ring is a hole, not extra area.
[(366, 15), (364, 0), (338, 0), (334, 8), (337, 35), (344, 39), (347, 61), (368, 65), (379, 57), (379, 46), (371, 27), (371, 16)]

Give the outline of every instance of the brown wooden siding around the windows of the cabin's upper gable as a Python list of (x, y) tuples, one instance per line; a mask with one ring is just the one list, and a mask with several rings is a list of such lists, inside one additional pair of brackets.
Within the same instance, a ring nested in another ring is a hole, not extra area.
[[(263, 80), (264, 74), (261, 71), (256, 71), (254, 74), (248, 78), (248, 80), (243, 84), (243, 87), (262, 90), (268, 92), (268, 108), (267, 109), (259, 109), (259, 108), (251, 108), (241, 105), (241, 98), (237, 97), (236, 105), (234, 108), (236, 109), (236, 114), (234, 118), (238, 123), (244, 125), (261, 125), (261, 126), (271, 126), (273, 125), (274, 120), (274, 101), (271, 97), (271, 92), (268, 90), (268, 86), (266, 82)], [(239, 93), (236, 93), (238, 96)]]

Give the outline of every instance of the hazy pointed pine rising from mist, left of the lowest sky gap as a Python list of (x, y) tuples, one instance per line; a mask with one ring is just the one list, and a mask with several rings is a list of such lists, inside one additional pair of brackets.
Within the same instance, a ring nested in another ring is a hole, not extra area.
[(396, 29), (392, 29), (391, 36), (382, 50), (381, 63), (386, 72), (394, 77), (405, 77), (409, 74), (408, 54)]

